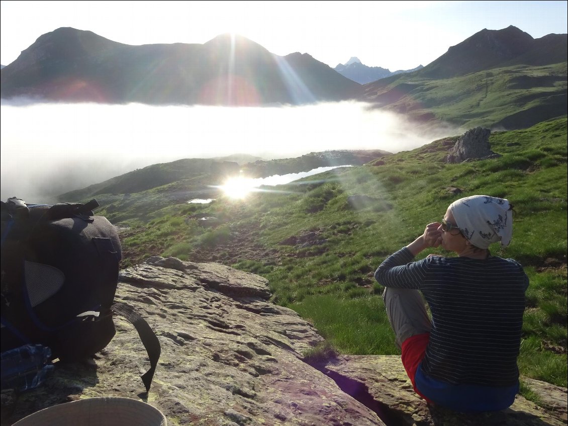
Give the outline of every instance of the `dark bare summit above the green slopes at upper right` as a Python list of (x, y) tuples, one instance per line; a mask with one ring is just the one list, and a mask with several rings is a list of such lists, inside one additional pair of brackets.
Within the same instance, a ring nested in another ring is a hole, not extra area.
[(448, 49), (416, 72), (416, 76), (450, 78), (508, 65), (548, 65), (568, 60), (568, 35), (540, 39), (512, 25), (503, 30), (481, 30)]

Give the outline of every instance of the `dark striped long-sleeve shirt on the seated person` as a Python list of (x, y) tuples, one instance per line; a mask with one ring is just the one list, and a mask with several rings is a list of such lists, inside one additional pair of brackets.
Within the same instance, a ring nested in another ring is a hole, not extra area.
[(386, 287), (418, 289), (432, 313), (423, 373), (452, 385), (518, 383), (517, 356), (528, 277), (512, 259), (431, 256), (407, 248), (375, 271)]

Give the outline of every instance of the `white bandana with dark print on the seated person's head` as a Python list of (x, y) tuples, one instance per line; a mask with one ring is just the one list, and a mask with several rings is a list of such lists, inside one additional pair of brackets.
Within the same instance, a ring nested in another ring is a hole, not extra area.
[(475, 247), (486, 249), (497, 241), (502, 247), (511, 243), (513, 215), (506, 199), (472, 195), (454, 201), (450, 210), (463, 236)]

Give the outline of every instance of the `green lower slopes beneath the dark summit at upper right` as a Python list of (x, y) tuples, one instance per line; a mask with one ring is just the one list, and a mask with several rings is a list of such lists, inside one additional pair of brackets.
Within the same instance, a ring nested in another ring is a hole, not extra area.
[(519, 129), (566, 114), (567, 62), (513, 65), (442, 80), (399, 74), (365, 85), (365, 99), (411, 119)]

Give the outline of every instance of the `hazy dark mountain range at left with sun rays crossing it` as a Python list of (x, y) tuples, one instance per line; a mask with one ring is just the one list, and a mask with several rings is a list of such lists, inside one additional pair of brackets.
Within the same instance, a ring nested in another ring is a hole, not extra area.
[(267, 105), (339, 101), (361, 86), (310, 55), (273, 55), (241, 36), (132, 46), (91, 31), (40, 36), (1, 74), (1, 97), (151, 104)]

